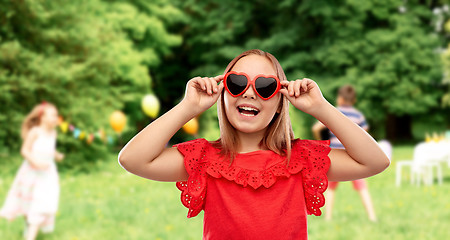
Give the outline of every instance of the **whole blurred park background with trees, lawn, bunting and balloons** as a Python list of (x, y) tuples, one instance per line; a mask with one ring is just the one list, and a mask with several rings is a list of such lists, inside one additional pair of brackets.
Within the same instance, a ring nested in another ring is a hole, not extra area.
[[(369, 179), (379, 221), (366, 220), (343, 184), (333, 221), (309, 219), (311, 239), (448, 237), (448, 165), (440, 185), (410, 184), (406, 172), (397, 187), (395, 163), (412, 160), (419, 142), (449, 141), (449, 4), (1, 0), (0, 201), (23, 160), (21, 123), (48, 101), (61, 115), (58, 150), (66, 158), (58, 164), (56, 230), (38, 239), (201, 238), (202, 217), (186, 220), (175, 185), (126, 173), (117, 153), (182, 99), (190, 78), (222, 74), (235, 56), (258, 48), (277, 57), (288, 79), (317, 81), (332, 103), (352, 84), (370, 134), (394, 146), (391, 167)], [(314, 118), (290, 113), (296, 137), (311, 139)], [(169, 144), (218, 136), (214, 106)], [(0, 239), (20, 239), (22, 225), (2, 219)]]

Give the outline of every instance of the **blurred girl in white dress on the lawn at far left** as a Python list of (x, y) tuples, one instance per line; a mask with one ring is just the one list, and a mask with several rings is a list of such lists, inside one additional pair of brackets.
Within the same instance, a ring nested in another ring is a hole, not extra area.
[(21, 154), (25, 158), (9, 190), (0, 216), (13, 220), (24, 215), (27, 240), (35, 239), (39, 229), (54, 229), (58, 208), (59, 180), (54, 160), (64, 155), (57, 152), (56, 126), (58, 111), (53, 104), (43, 102), (33, 108), (22, 124), (24, 142)]

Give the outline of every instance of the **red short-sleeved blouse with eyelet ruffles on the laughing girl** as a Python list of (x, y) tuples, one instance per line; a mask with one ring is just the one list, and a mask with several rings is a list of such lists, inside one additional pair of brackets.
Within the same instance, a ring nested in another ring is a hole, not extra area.
[(177, 182), (188, 218), (205, 211), (204, 239), (307, 239), (306, 215), (321, 215), (329, 141), (295, 140), (292, 157), (270, 150), (233, 163), (205, 139), (175, 145), (189, 179)]

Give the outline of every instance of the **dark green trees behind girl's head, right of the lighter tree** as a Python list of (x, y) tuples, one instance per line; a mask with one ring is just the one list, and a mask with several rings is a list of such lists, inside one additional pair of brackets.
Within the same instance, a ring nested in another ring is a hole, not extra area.
[[(221, 74), (239, 53), (259, 48), (278, 58), (289, 79), (316, 80), (331, 102), (339, 86), (353, 84), (359, 96), (357, 107), (372, 129), (384, 129), (388, 115), (444, 112), (439, 106), (443, 91), (436, 53), (442, 37), (432, 25), (435, 2), (176, 3), (186, 13), (187, 24), (178, 27), (185, 41), (177, 57), (168, 58), (162, 73), (156, 73), (155, 87), (162, 96), (175, 94), (168, 89), (182, 92), (184, 85), (160, 83)], [(173, 66), (177, 71), (166, 70)], [(309, 124), (311, 120), (306, 119)]]

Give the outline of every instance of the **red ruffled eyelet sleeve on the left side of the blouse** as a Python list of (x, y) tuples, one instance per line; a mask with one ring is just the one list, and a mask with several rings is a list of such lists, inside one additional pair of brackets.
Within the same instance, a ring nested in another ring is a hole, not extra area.
[(184, 166), (189, 178), (187, 181), (177, 182), (181, 191), (181, 202), (189, 209), (188, 218), (197, 216), (203, 209), (206, 194), (206, 149), (209, 142), (196, 139), (174, 145), (184, 156)]

